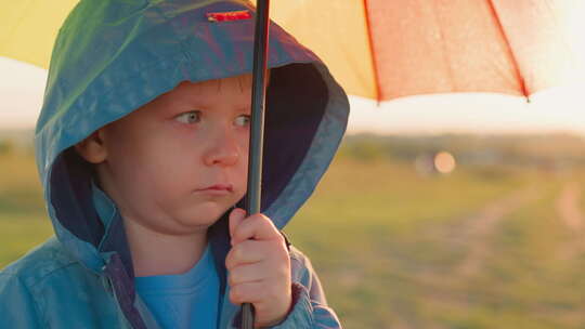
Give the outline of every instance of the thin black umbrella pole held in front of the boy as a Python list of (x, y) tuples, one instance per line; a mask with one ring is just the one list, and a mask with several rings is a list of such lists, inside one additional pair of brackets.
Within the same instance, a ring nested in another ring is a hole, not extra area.
[[(270, 0), (258, 0), (257, 4), (253, 39), (250, 154), (248, 157), (248, 189), (246, 197), (246, 212), (248, 215), (260, 212), (260, 200), (262, 196), (262, 152), (264, 142)], [(242, 305), (242, 328), (253, 328), (253, 307), (250, 303), (244, 303)]]

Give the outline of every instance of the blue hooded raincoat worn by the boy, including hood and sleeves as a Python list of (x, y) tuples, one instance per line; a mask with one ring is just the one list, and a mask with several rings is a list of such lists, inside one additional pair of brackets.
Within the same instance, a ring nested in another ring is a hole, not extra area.
[[(240, 10), (252, 18), (206, 16)], [(134, 290), (119, 212), (100, 221), (92, 167), (72, 146), (181, 81), (251, 73), (252, 47), (253, 8), (243, 0), (78, 3), (53, 49), (35, 135), (55, 236), (0, 272), (0, 328), (159, 328)], [(329, 166), (349, 104), (327, 67), (275, 24), (269, 66), (261, 212), (282, 229)], [(226, 214), (208, 238), (221, 282), (218, 327), (238, 328), (239, 307), (227, 298)], [(294, 304), (273, 328), (340, 328), (309, 259), (294, 246), (289, 254)]]

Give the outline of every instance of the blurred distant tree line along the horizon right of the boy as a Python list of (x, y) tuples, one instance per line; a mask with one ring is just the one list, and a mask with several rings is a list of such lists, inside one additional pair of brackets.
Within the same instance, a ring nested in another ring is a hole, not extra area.
[(458, 164), (563, 169), (585, 164), (585, 140), (572, 134), (347, 135), (340, 157), (414, 161), (448, 152)]

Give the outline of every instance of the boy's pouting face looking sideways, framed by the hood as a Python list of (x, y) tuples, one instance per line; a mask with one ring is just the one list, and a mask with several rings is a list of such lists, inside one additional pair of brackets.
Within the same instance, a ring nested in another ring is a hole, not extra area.
[(183, 81), (90, 136), (102, 146), (103, 160), (92, 161), (101, 185), (126, 221), (191, 234), (207, 229), (242, 199), (250, 94), (250, 75)]

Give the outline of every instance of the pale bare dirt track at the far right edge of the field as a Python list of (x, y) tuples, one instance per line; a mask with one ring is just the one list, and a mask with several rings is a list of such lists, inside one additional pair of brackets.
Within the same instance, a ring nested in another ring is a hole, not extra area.
[(585, 252), (585, 218), (580, 207), (581, 194), (580, 185), (569, 182), (555, 202), (559, 219), (570, 231), (570, 239), (560, 250), (562, 260), (571, 260)]

